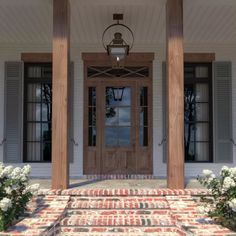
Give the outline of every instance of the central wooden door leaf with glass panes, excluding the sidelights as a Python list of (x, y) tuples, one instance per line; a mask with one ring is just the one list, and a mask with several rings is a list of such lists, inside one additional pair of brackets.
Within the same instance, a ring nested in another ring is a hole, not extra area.
[(136, 173), (135, 93), (133, 82), (105, 82), (102, 86), (102, 174)]

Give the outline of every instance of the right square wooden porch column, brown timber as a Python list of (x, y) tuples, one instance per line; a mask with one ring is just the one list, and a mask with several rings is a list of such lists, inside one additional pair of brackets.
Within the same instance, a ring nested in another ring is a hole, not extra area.
[(167, 0), (167, 185), (184, 188), (183, 0)]

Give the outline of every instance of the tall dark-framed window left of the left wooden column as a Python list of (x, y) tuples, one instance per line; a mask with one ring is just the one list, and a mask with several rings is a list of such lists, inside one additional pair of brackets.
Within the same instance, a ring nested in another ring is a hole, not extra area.
[(52, 65), (26, 64), (24, 161), (51, 161)]

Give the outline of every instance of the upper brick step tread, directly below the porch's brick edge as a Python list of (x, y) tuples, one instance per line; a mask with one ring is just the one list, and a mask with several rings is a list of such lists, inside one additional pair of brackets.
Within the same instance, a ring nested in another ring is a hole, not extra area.
[(164, 198), (106, 197), (71, 198), (68, 209), (169, 209)]

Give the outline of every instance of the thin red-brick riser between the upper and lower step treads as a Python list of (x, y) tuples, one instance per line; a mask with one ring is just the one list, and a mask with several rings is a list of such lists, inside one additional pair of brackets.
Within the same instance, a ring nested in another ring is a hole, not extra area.
[(114, 210), (114, 209), (95, 209), (95, 210), (68, 210), (67, 216), (71, 215), (99, 215), (99, 216), (117, 216), (117, 215), (169, 215), (169, 210), (153, 210), (153, 209), (135, 209), (135, 210)]

